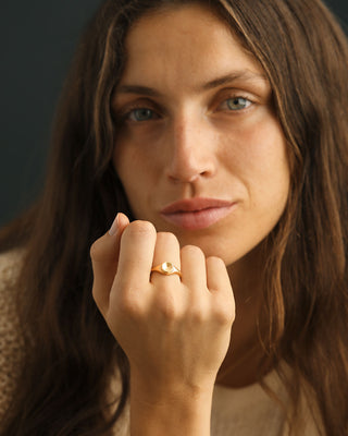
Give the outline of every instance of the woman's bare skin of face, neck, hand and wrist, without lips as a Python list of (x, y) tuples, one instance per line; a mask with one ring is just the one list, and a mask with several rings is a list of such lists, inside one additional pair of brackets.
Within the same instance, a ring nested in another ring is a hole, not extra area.
[[(287, 202), (285, 140), (264, 72), (207, 9), (145, 16), (126, 49), (114, 166), (137, 220), (120, 214), (92, 245), (94, 296), (130, 363), (132, 434), (209, 435), (216, 377), (251, 383), (261, 358), (260, 244)], [(192, 197), (235, 207), (204, 229), (163, 219)], [(182, 278), (150, 274), (164, 261)]]

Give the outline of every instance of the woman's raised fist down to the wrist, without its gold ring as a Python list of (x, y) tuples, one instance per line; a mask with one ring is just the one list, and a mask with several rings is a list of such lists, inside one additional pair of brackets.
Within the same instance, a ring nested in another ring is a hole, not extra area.
[[(94, 298), (147, 393), (212, 387), (229, 344), (233, 291), (222, 259), (147, 221), (117, 216), (117, 232), (91, 246)], [(152, 266), (182, 270), (163, 276)]]

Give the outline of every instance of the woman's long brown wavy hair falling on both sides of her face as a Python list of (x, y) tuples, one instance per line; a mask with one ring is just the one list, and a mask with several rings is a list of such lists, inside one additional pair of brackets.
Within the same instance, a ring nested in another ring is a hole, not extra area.
[[(266, 239), (262, 338), (294, 405), (308, 386), (324, 433), (348, 434), (348, 47), (320, 0), (206, 0), (261, 63), (288, 144), (291, 190)], [(18, 311), (25, 358), (7, 436), (110, 435), (128, 396), (128, 363), (91, 296), (91, 243), (117, 211), (132, 217), (111, 164), (111, 98), (125, 37), (145, 13), (190, 1), (108, 0), (90, 22), (65, 83), (46, 186), (2, 230), (24, 246)], [(120, 398), (107, 395), (119, 367)], [(281, 372), (281, 367), (278, 367)], [(289, 378), (290, 377), (290, 378)], [(114, 412), (115, 404), (117, 404)], [(295, 432), (295, 426), (293, 431)]]

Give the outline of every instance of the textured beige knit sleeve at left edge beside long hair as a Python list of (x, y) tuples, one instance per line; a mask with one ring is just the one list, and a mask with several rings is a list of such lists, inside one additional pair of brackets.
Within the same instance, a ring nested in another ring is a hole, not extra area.
[(15, 389), (23, 355), (15, 308), (15, 279), (20, 267), (17, 252), (0, 254), (0, 422)]

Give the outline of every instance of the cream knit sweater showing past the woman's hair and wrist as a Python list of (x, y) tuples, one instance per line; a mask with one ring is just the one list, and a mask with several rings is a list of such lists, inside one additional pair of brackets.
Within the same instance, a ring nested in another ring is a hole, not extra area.
[[(14, 304), (14, 282), (20, 258), (15, 252), (0, 255), (0, 427), (16, 384), (22, 356), (18, 319)], [(265, 382), (286, 404), (287, 396), (276, 374), (270, 373)], [(114, 435), (128, 436), (128, 423), (129, 409), (126, 408), (122, 420), (115, 426)], [(211, 435), (287, 436), (288, 428), (282, 409), (258, 384), (241, 389), (215, 386)], [(304, 402), (302, 420), (295, 435), (319, 435)]]

